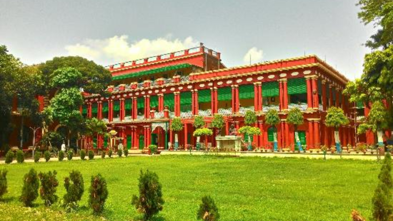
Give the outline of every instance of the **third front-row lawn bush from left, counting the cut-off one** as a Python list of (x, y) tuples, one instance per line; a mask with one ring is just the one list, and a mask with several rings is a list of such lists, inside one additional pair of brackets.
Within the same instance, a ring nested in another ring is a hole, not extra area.
[(59, 182), (56, 179), (57, 172), (53, 170), (53, 173), (39, 173), (38, 177), (41, 181), (40, 196), (44, 201), (45, 206), (50, 206), (55, 203), (58, 199), (56, 195), (56, 188), (59, 186)]

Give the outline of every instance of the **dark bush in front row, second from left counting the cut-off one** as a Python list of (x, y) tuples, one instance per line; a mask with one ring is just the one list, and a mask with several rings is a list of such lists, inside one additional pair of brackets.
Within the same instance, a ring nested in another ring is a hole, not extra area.
[(23, 177), (22, 195), (20, 201), (25, 206), (32, 206), (35, 199), (38, 197), (38, 188), (40, 182), (38, 179), (37, 172), (31, 168), (29, 173), (26, 173)]

